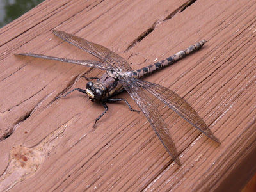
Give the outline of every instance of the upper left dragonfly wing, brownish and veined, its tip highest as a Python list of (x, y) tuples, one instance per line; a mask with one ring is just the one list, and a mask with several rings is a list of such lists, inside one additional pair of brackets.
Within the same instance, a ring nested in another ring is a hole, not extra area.
[(64, 31), (54, 30), (53, 33), (66, 42), (75, 45), (76, 47), (79, 47), (80, 49), (83, 49), (84, 51), (92, 54), (100, 60), (108, 63), (108, 65), (111, 65), (115, 69), (119, 69), (124, 72), (131, 70), (129, 63), (124, 58), (102, 45), (89, 42), (84, 38), (65, 33)]

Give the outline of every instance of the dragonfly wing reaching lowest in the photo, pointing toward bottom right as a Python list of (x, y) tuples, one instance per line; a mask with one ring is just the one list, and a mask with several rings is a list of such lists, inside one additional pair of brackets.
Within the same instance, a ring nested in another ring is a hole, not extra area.
[(120, 82), (123, 84), (125, 90), (127, 90), (132, 99), (140, 106), (141, 111), (143, 111), (144, 115), (147, 117), (148, 122), (152, 125), (164, 147), (173, 160), (180, 166), (179, 154), (169, 134), (168, 128), (157, 110), (156, 104), (154, 104), (153, 100), (148, 96), (148, 92), (132, 80), (133, 78), (131, 77), (120, 76)]

